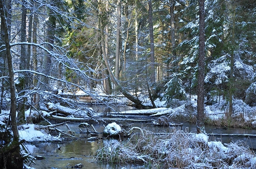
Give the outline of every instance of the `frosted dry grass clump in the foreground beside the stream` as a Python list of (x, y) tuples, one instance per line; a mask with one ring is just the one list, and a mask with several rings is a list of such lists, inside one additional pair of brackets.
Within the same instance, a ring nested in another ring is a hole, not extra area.
[[(162, 134), (143, 129), (143, 133), (144, 136), (134, 135), (126, 142), (104, 141), (96, 159), (107, 163), (144, 164), (148, 169), (253, 168), (249, 160), (255, 154), (243, 142), (224, 147), (220, 142), (205, 142), (198, 135), (177, 129)], [(242, 160), (240, 155), (244, 157)]]

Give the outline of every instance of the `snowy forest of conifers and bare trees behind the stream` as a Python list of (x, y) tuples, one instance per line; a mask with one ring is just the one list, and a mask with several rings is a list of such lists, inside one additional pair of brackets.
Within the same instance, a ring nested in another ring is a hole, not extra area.
[[(12, 132), (2, 152), (21, 156), (26, 111), (77, 109), (79, 91), (106, 112), (102, 100), (119, 95), (136, 109), (195, 99), (197, 133), (207, 122), (256, 127), (237, 112), (256, 112), (255, 0), (0, 0), (0, 15), (0, 124)], [(216, 104), (221, 123), (204, 114)]]

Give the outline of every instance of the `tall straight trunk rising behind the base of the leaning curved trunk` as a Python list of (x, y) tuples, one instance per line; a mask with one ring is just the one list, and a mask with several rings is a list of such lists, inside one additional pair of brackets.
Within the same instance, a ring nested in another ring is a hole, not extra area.
[(155, 49), (154, 49), (154, 31), (153, 31), (153, 14), (152, 14), (152, 0), (148, 1), (149, 5), (149, 36), (150, 36), (150, 82), (156, 82), (155, 74)]

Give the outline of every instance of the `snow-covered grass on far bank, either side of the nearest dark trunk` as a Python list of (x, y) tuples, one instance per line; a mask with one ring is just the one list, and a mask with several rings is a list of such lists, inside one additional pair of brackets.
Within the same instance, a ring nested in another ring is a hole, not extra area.
[[(196, 115), (196, 96), (186, 101), (173, 100), (172, 106), (158, 111), (152, 116), (167, 116), (170, 119), (186, 119), (195, 122)], [(160, 101), (156, 101), (160, 104)], [(158, 105), (157, 104), (157, 105)], [(227, 119), (228, 102), (220, 99), (218, 103), (204, 106), (205, 124), (226, 126), (226, 127), (242, 127), (256, 128), (256, 107), (251, 107), (243, 102), (243, 100), (233, 99), (233, 114)]]

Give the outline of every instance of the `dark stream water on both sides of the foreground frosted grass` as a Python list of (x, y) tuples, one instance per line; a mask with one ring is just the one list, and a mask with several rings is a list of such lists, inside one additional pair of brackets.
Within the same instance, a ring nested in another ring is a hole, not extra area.
[[(81, 134), (79, 130), (79, 122), (68, 123), (71, 130), (74, 130), (77, 134), (77, 140), (68, 143), (42, 143), (34, 142), (32, 145), (28, 145), (28, 148), (33, 156), (40, 155), (45, 157), (44, 160), (35, 160), (36, 164), (32, 164), (31, 167), (35, 169), (71, 169), (71, 166), (76, 164), (83, 164), (82, 169), (147, 169), (146, 166), (111, 166), (109, 164), (98, 164), (94, 160), (93, 154), (96, 152), (98, 147), (101, 145), (102, 140), (94, 142), (88, 142), (87, 138), (91, 135)], [(133, 123), (132, 126), (143, 127), (145, 129), (154, 132), (168, 132), (168, 127), (157, 127), (151, 123)], [(196, 132), (196, 125), (192, 123), (184, 123), (183, 130), (188, 127), (189, 132)], [(58, 128), (66, 130), (65, 125), (59, 126)], [(96, 131), (102, 132), (104, 129), (103, 125), (96, 125)], [(85, 130), (84, 128), (82, 128)], [(225, 133), (225, 134), (256, 134), (256, 130), (241, 129), (241, 128), (227, 128), (222, 129), (216, 126), (205, 126), (206, 133)], [(128, 130), (128, 129), (126, 129)], [(210, 137), (212, 141), (221, 141), (222, 143), (236, 142), (238, 140), (244, 141), (251, 148), (256, 148), (256, 138), (248, 137)], [(60, 149), (58, 149), (61, 147)], [(70, 164), (70, 165), (68, 165)]]

